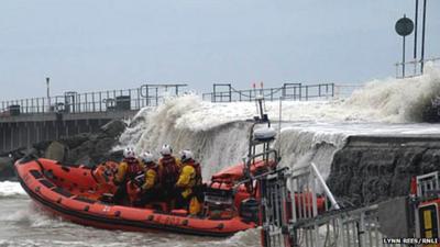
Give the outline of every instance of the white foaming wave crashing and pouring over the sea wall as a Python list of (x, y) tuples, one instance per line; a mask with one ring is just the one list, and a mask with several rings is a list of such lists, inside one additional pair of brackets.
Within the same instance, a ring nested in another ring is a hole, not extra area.
[[(289, 123), (283, 124), (276, 144), (282, 147), (282, 165), (315, 161), (328, 175), (332, 155), (349, 135), (439, 133), (438, 125), (429, 125), (429, 130), (408, 125), (420, 122), (422, 109), (439, 94), (440, 69), (427, 67), (420, 77), (367, 82), (345, 100), (283, 101), (282, 120)], [(266, 102), (265, 108), (272, 120), (278, 117), (279, 102)], [(195, 94), (172, 98), (157, 109), (142, 110), (122, 134), (118, 148), (133, 145), (138, 151), (157, 155), (167, 143), (175, 150), (193, 149), (208, 179), (241, 161), (248, 150), (250, 125), (245, 120), (255, 113), (254, 102), (211, 103)]]

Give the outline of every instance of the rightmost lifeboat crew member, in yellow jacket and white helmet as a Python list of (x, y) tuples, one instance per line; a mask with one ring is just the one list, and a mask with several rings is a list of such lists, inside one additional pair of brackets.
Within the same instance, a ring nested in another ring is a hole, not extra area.
[(180, 175), (176, 182), (179, 190), (177, 206), (188, 209), (190, 214), (198, 214), (201, 206), (196, 190), (202, 182), (200, 165), (193, 159), (190, 150), (180, 151)]

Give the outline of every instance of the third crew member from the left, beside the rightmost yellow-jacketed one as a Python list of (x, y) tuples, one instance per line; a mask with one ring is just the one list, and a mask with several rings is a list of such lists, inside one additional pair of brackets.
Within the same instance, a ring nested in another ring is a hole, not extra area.
[(160, 180), (164, 190), (164, 199), (168, 204), (168, 210), (173, 210), (175, 202), (175, 188), (179, 176), (180, 162), (173, 155), (173, 149), (168, 144), (164, 144), (161, 149), (162, 158), (158, 160)]

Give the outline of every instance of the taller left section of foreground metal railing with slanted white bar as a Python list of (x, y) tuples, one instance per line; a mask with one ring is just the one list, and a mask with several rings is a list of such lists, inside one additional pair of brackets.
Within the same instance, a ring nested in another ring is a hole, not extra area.
[[(280, 169), (263, 178), (261, 184), (265, 247), (294, 246), (298, 240), (296, 233), (299, 233), (292, 228), (295, 224), (316, 218), (319, 213), (339, 209), (312, 164), (294, 170)], [(318, 225), (315, 226), (319, 228)], [(314, 239), (318, 239), (318, 234), (319, 232), (307, 232), (307, 236)], [(308, 243), (306, 246), (312, 245)]]

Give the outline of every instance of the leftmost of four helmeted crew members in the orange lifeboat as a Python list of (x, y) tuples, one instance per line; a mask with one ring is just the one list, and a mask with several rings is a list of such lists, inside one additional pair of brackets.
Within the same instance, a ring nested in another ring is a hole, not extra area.
[(127, 183), (134, 180), (134, 178), (143, 171), (142, 165), (135, 157), (134, 149), (127, 147), (123, 151), (123, 160), (118, 167), (118, 172), (114, 176), (114, 184), (118, 190), (113, 195), (113, 202), (122, 204), (128, 195)]

